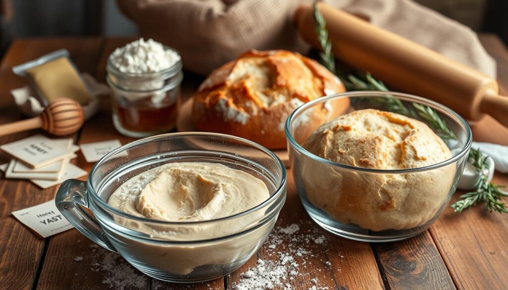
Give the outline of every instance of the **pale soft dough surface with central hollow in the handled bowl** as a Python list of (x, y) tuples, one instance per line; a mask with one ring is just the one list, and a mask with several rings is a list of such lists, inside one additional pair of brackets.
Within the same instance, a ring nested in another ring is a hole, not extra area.
[(149, 171), (153, 177), (138, 195), (122, 187), (108, 203), (127, 213), (166, 221), (200, 221), (253, 208), (270, 197), (259, 178), (221, 164), (181, 162)]

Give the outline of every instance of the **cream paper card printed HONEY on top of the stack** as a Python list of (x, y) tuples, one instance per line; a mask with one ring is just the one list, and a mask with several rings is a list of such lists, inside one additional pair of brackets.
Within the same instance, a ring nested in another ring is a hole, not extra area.
[[(63, 139), (68, 142), (69, 139)], [(67, 143), (68, 144), (68, 143)], [(73, 153), (62, 141), (52, 140), (43, 135), (34, 135), (23, 140), (0, 146), (4, 151), (22, 160), (24, 163), (38, 168)]]

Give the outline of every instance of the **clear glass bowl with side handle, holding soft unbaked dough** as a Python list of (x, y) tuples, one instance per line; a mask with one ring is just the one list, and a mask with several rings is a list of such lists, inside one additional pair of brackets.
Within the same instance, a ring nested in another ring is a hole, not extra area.
[[(244, 171), (266, 184), (270, 198), (232, 216), (194, 222), (142, 218), (108, 204), (126, 180), (175, 162), (219, 163)], [(212, 133), (166, 134), (108, 153), (86, 182), (65, 181), (55, 203), (82, 234), (141, 272), (166, 281), (199, 282), (235, 271), (263, 244), (284, 204), (286, 177), (280, 159), (251, 141)]]

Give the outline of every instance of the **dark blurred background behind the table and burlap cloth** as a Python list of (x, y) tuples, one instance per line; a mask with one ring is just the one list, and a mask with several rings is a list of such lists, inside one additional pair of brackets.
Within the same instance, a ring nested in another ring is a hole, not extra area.
[[(474, 31), (495, 33), (508, 43), (508, 0), (415, 1)], [(116, 0), (0, 0), (0, 3), (1, 51), (15, 38), (138, 33), (136, 25), (118, 11)]]

